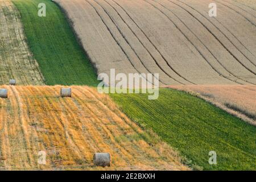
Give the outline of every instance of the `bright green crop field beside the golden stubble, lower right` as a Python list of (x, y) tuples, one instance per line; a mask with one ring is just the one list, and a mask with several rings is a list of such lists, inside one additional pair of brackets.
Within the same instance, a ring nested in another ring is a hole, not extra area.
[[(158, 100), (147, 94), (110, 96), (133, 121), (177, 148), (189, 166), (256, 169), (256, 128), (208, 102), (172, 89), (160, 89)], [(209, 151), (217, 152), (217, 165), (208, 163)]]

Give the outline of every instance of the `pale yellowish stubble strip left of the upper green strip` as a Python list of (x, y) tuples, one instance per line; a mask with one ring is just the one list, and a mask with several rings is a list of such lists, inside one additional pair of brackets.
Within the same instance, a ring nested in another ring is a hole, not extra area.
[(38, 63), (27, 46), (19, 11), (0, 0), (0, 85), (15, 79), (18, 85), (43, 85)]

